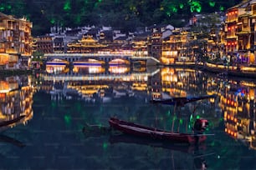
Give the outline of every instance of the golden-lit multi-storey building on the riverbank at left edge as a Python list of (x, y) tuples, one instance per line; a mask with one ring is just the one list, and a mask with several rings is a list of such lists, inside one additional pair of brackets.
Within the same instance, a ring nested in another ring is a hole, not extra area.
[(18, 67), (18, 61), (28, 65), (32, 23), (0, 13), (0, 66)]

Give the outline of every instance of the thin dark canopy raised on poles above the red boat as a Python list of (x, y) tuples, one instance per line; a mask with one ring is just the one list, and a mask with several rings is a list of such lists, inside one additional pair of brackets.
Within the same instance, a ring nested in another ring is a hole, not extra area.
[(160, 103), (160, 104), (168, 104), (168, 105), (177, 105), (177, 106), (184, 106), (188, 102), (196, 102), (199, 100), (213, 98), (216, 97), (215, 95), (205, 95), (205, 96), (198, 96), (198, 97), (172, 97), (168, 99), (152, 99), (151, 103)]

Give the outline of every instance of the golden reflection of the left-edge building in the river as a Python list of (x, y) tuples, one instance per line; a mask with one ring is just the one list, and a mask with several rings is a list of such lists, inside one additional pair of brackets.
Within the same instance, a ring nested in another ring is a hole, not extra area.
[(30, 77), (0, 81), (0, 128), (25, 123), (33, 117), (33, 87)]

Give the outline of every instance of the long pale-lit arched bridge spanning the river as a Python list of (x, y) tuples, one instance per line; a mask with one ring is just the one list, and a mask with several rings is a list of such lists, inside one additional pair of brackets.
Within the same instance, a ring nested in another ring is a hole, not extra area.
[(144, 61), (146, 65), (156, 65), (160, 63), (155, 57), (136, 57), (132, 55), (126, 54), (99, 54), (99, 53), (46, 53), (44, 57), (47, 58), (48, 61), (54, 59), (61, 59), (67, 62), (79, 62), (84, 61), (86, 59), (95, 59), (97, 61), (109, 63), (115, 59), (121, 59), (123, 61), (127, 61), (130, 63), (137, 61)]

